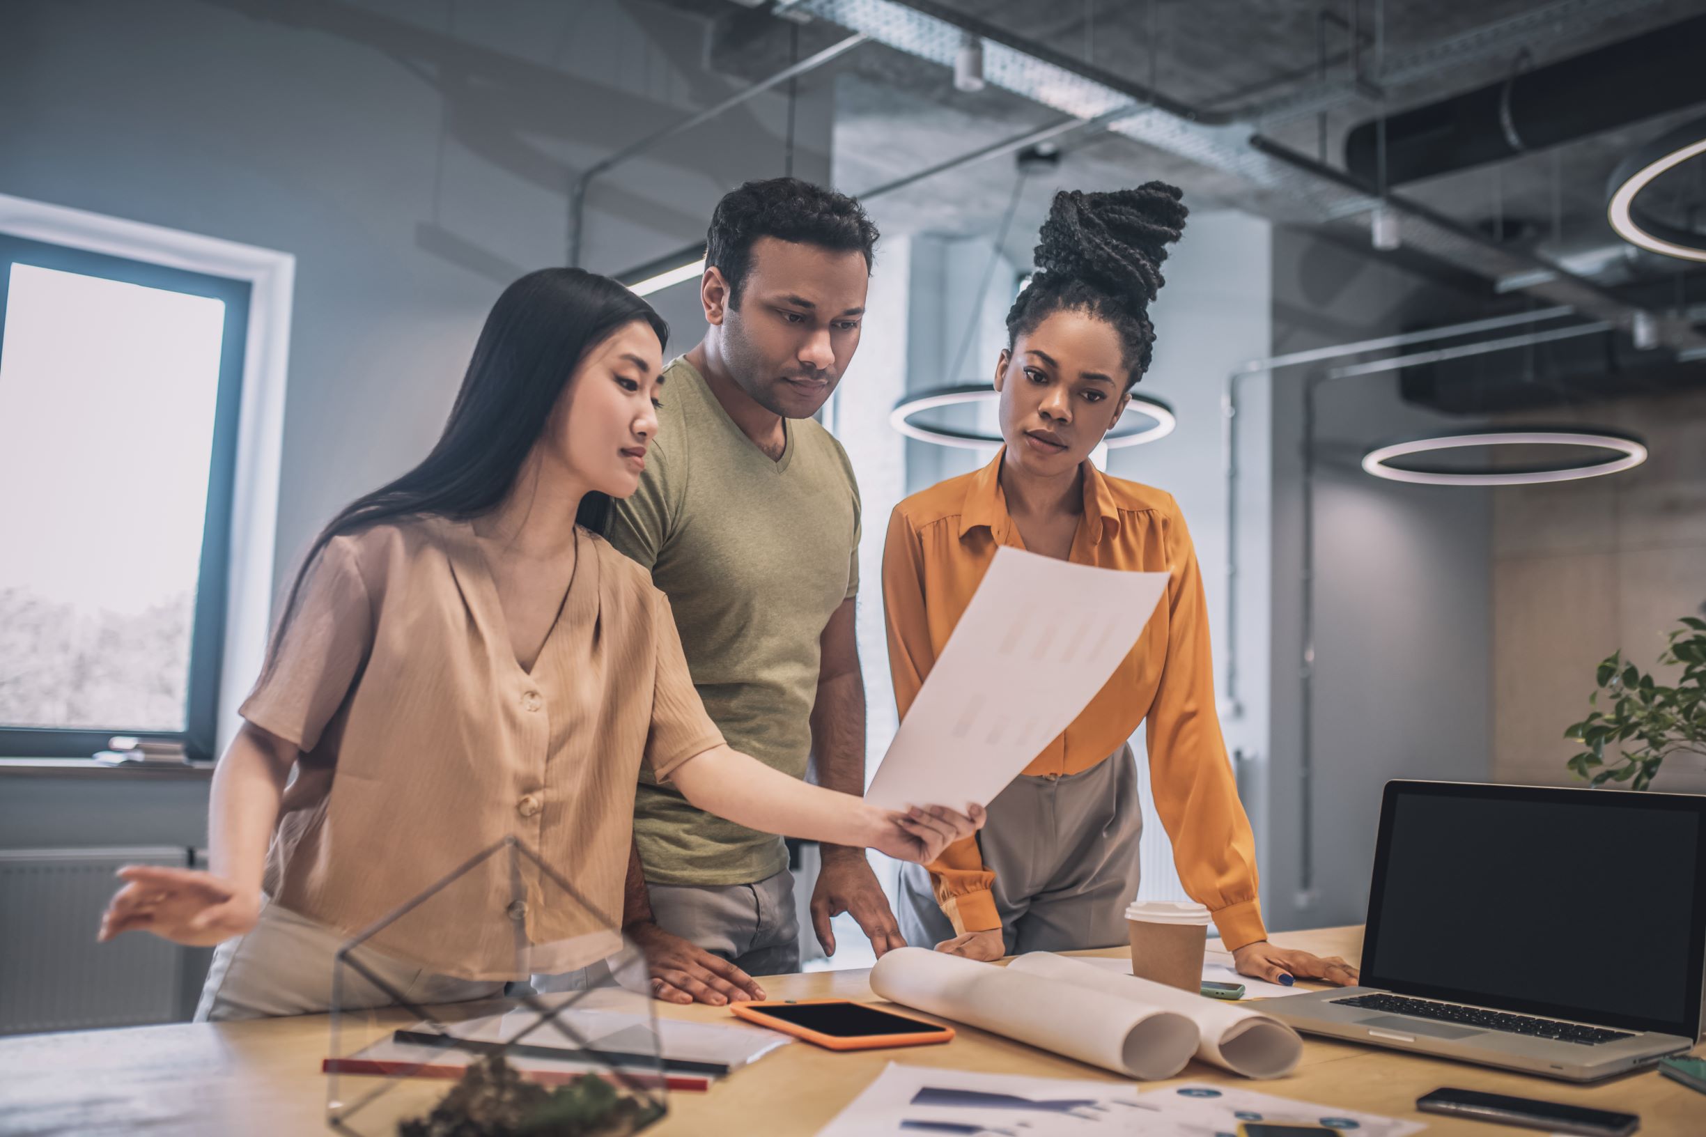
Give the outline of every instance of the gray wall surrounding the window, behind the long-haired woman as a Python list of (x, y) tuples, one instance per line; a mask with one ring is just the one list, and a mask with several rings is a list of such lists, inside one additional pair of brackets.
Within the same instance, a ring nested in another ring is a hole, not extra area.
[[(701, 70), (703, 24), (612, 0), (9, 0), (0, 20), (0, 193), (297, 258), (278, 579), (437, 437), (498, 290), (561, 263), (573, 171), (734, 89)], [(827, 178), (831, 89), (802, 82), (804, 178)], [(583, 263), (701, 239), (720, 193), (781, 172), (783, 123), (766, 94), (601, 181)], [(701, 316), (674, 292), (679, 350)], [(198, 845), (205, 792), (9, 778), (0, 845)]]

